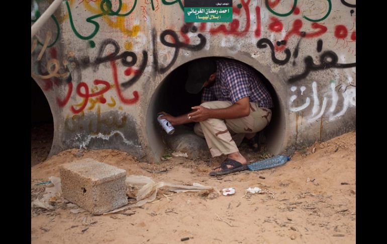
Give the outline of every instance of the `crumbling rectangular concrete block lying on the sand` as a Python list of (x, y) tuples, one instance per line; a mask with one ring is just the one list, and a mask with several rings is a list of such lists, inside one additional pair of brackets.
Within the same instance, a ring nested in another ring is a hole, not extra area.
[(63, 197), (92, 214), (128, 204), (125, 170), (84, 158), (62, 165), (59, 172)]

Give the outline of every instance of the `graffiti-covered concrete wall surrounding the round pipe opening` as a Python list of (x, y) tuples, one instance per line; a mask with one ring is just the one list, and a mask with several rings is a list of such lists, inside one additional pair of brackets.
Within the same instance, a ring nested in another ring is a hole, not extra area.
[[(51, 2), (32, 1), (32, 22)], [(153, 161), (163, 148), (153, 95), (206, 56), (238, 59), (269, 80), (280, 107), (274, 153), (355, 128), (354, 0), (236, 0), (232, 23), (184, 23), (180, 0), (104, 3), (64, 1), (31, 41), (31, 75), (54, 118), (50, 155), (115, 148)]]

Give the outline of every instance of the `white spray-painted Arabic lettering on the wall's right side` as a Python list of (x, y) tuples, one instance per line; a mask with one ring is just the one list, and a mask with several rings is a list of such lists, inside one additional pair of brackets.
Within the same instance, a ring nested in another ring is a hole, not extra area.
[[(336, 83), (334, 80), (331, 80), (329, 85), (329, 91), (327, 91), (323, 96), (320, 98), (318, 89), (317, 89), (317, 83), (312, 83), (312, 99), (313, 99), (313, 107), (311, 110), (311, 115), (307, 118), (308, 122), (313, 122), (321, 118), (324, 113), (326, 116), (329, 117), (329, 121), (333, 121), (345, 114), (345, 112), (348, 110), (348, 108), (356, 107), (356, 86), (349, 83), (349, 85), (343, 85), (339, 84), (336, 86)], [(292, 86), (291, 89), (292, 93), (297, 93), (298, 88), (296, 86)], [(289, 99), (289, 109), (292, 112), (299, 112), (307, 109), (309, 105), (311, 104), (311, 98), (309, 96), (304, 97), (304, 92), (307, 90), (306, 87), (300, 87), (301, 91), (301, 100), (305, 100), (305, 103), (303, 103), (301, 106), (294, 107), (293, 103), (296, 102), (296, 99), (298, 98), (297, 95), (292, 95)], [(339, 96), (341, 94), (341, 97)], [(320, 99), (322, 99), (322, 104), (320, 103)], [(342, 105), (339, 101), (342, 101)], [(326, 112), (326, 108), (328, 106), (328, 103), (331, 102), (329, 109)], [(339, 112), (335, 111), (337, 109), (341, 110)]]

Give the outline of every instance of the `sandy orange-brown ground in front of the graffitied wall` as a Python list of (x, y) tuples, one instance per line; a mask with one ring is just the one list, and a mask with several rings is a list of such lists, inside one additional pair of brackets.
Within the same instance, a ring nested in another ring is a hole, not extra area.
[[(67, 150), (31, 168), (32, 200), (44, 190), (37, 182), (59, 177), (61, 164), (87, 157), (155, 182), (234, 187), (236, 194), (210, 200), (161, 191), (153, 203), (101, 216), (71, 213), (65, 204), (53, 211), (34, 208), (32, 243), (182, 243), (183, 237), (189, 237), (186, 243), (355, 243), (355, 139), (355, 132), (347, 133), (296, 152), (281, 167), (222, 177), (208, 175), (222, 158), (150, 165), (116, 150)], [(248, 187), (266, 193), (245, 195)]]

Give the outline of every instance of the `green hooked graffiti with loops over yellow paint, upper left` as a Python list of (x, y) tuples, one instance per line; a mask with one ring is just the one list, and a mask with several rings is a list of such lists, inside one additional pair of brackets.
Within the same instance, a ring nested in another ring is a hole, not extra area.
[[(101, 13), (101, 14), (98, 14), (98, 15), (93, 15), (93, 16), (88, 17), (88, 18), (86, 19), (86, 22), (88, 22), (88, 23), (94, 25), (94, 31), (93, 31), (90, 35), (88, 35), (88, 36), (82, 36), (82, 35), (79, 34), (79, 32), (75, 29), (74, 22), (73, 22), (73, 20), (72, 20), (72, 14), (71, 14), (70, 5), (69, 5), (68, 2), (66, 1), (66, 6), (67, 6), (68, 17), (69, 17), (71, 29), (72, 29), (72, 31), (74, 32), (74, 34), (75, 34), (78, 38), (80, 38), (80, 39), (82, 39), (82, 40), (88, 40), (88, 39), (93, 38), (93, 37), (96, 35), (96, 33), (98, 33), (98, 31), (100, 30), (100, 24), (98, 24), (98, 22), (94, 21), (94, 19), (100, 18), (100, 17), (105, 16), (105, 15), (109, 15), (109, 16), (120, 16), (120, 17), (128, 16), (128, 15), (130, 15), (130, 14), (133, 12), (133, 10), (134, 10), (135, 7), (136, 7), (136, 4), (137, 4), (137, 0), (134, 1), (134, 4), (133, 4), (132, 9), (131, 9), (128, 13), (125, 13), (125, 14), (119, 14), (120, 11), (121, 11), (121, 8), (122, 8), (122, 0), (119, 0), (119, 5), (118, 5), (117, 11), (113, 11), (113, 10), (112, 10), (112, 2), (111, 2), (110, 0), (103, 0), (103, 1), (101, 1), (100, 8), (101, 8), (102, 13)], [(105, 8), (106, 8), (106, 9), (105, 9)]]

